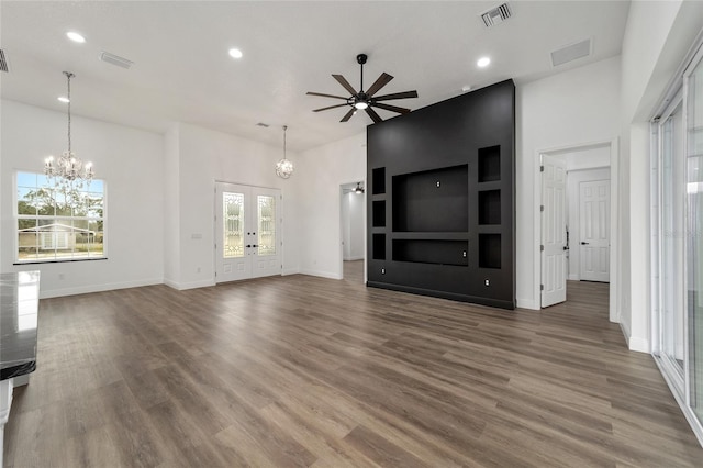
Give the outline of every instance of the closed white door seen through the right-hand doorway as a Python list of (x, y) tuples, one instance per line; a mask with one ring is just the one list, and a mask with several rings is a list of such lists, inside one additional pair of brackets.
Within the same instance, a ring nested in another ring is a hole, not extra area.
[(579, 185), (581, 280), (610, 281), (610, 180), (594, 180)]

